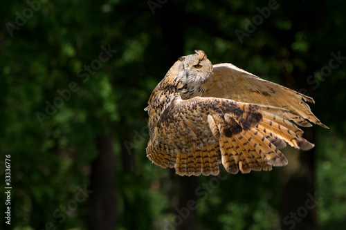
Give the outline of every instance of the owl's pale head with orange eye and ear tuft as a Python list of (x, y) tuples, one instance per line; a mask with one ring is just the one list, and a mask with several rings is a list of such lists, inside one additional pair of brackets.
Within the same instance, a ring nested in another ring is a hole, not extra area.
[(201, 85), (212, 75), (212, 63), (202, 50), (194, 50), (196, 54), (179, 57), (179, 78), (190, 86)]

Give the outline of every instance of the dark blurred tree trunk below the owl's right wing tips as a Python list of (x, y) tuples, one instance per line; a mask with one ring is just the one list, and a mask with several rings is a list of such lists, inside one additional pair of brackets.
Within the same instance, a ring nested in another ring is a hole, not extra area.
[(287, 148), (284, 153), (291, 166), (286, 166), (282, 173), (281, 227), (283, 230), (317, 227), (316, 207), (319, 198), (313, 176), (315, 153), (294, 148)]

